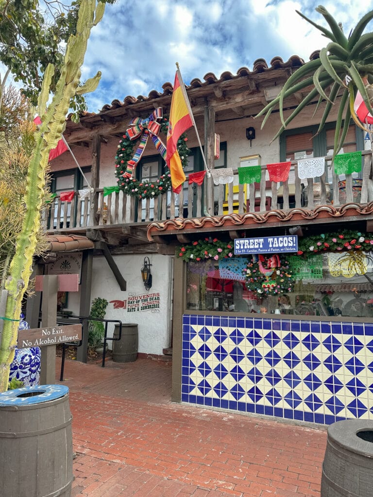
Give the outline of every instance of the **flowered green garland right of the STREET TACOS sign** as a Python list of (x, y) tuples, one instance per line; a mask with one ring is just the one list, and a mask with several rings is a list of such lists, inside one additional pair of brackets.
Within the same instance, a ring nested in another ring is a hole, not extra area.
[(325, 233), (298, 239), (298, 255), (324, 251), (373, 250), (373, 236), (357, 231)]

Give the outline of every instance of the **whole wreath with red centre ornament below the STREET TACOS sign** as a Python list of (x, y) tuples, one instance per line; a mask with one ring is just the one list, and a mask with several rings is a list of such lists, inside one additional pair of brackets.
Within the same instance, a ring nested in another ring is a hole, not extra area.
[(288, 260), (282, 254), (253, 255), (252, 261), (248, 262), (242, 271), (246, 288), (261, 297), (291, 292), (292, 271)]

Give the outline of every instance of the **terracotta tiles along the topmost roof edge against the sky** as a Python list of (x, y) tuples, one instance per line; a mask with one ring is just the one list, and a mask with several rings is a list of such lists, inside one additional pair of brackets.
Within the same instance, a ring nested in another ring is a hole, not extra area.
[[(310, 55), (310, 60), (317, 59), (319, 57), (319, 50), (312, 52)], [(269, 73), (271, 71), (275, 71), (277, 69), (297, 69), (305, 64), (305, 61), (299, 57), (298, 55), (292, 55), (286, 62), (283, 62), (281, 57), (274, 57), (270, 65), (267, 64), (265, 59), (257, 59), (253, 63), (253, 70), (250, 71), (247, 67), (241, 67), (237, 70), (237, 73), (234, 75), (230, 71), (225, 71), (220, 75), (220, 78), (215, 76), (214, 73), (206, 73), (203, 77), (204, 81), (201, 81), (199, 78), (194, 78), (191, 80), (189, 85), (186, 84), (186, 88), (199, 88), (203, 86), (208, 86), (210, 84), (221, 83), (227, 80), (235, 80), (238, 78), (248, 77), (252, 75), (256, 75), (259, 73)], [(99, 114), (102, 112), (107, 112), (109, 110), (116, 109), (118, 107), (126, 107), (133, 105), (137, 102), (144, 102), (146, 100), (153, 100), (163, 96), (171, 95), (173, 93), (173, 85), (170, 82), (166, 82), (162, 85), (163, 92), (159, 92), (157, 90), (151, 90), (148, 96), (138, 95), (137, 97), (133, 95), (127, 95), (123, 98), (123, 101), (118, 99), (114, 99), (111, 104), (105, 104), (102, 109), (99, 111)], [(68, 120), (71, 121), (71, 116), (73, 114), (68, 115)], [(81, 115), (81, 117), (91, 117), (97, 115), (95, 112), (85, 112)]]

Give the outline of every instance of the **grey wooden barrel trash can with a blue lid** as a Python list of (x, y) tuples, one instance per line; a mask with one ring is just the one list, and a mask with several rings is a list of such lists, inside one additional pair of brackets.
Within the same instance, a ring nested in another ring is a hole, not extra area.
[(69, 389), (39, 385), (0, 394), (0, 496), (70, 497)]

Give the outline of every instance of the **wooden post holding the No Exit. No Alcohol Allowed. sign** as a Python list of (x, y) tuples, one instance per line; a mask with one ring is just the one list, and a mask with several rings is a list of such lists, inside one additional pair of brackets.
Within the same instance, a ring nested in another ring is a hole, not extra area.
[[(57, 321), (58, 275), (43, 277), (42, 327), (54, 326)], [(56, 381), (56, 345), (41, 347), (40, 385), (50, 385)]]

